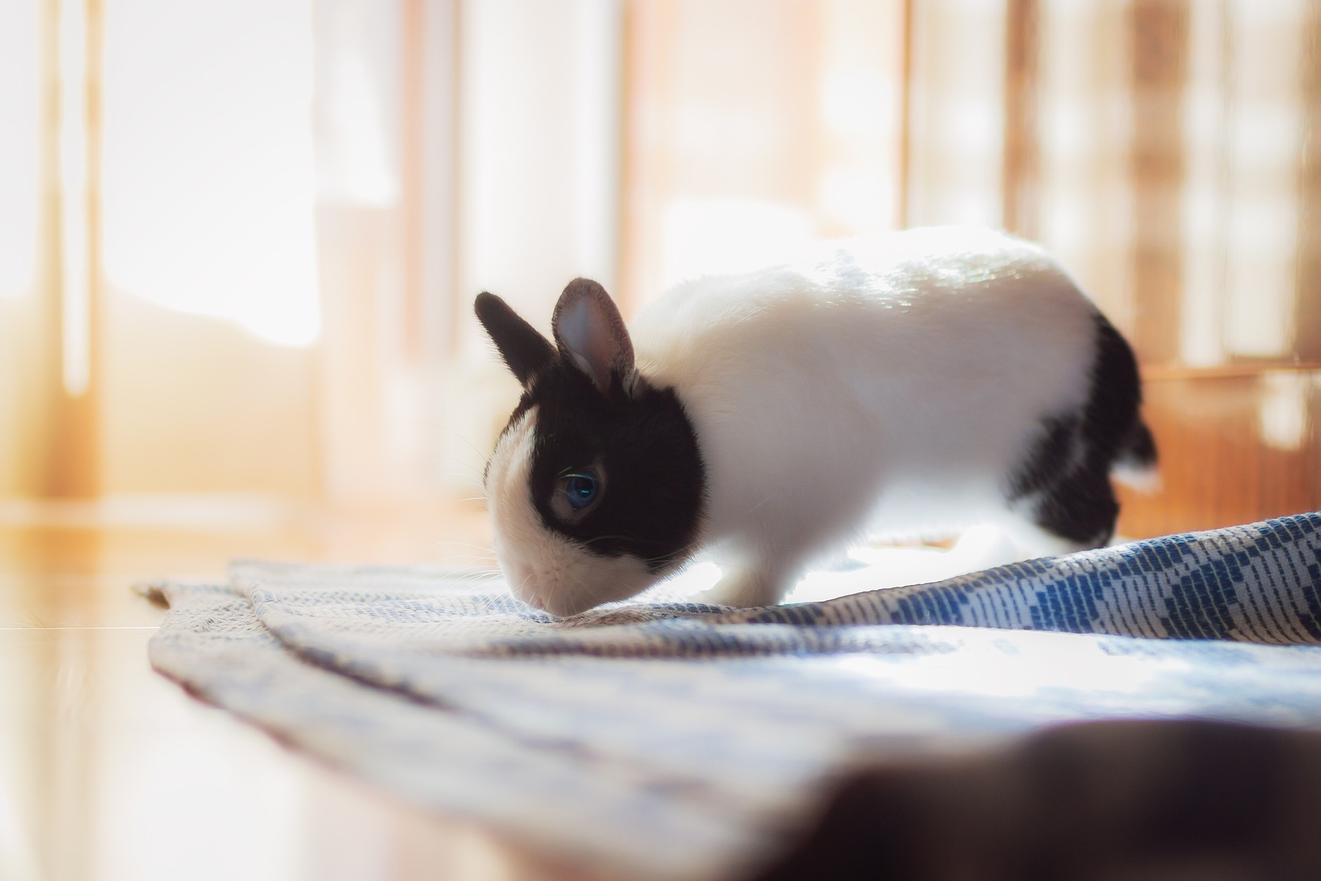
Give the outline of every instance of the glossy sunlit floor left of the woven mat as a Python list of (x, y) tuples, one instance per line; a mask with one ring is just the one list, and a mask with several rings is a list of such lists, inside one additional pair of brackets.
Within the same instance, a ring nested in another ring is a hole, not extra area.
[(462, 564), (473, 551), (436, 536), (483, 531), (435, 510), (0, 503), (0, 878), (580, 877), (295, 754), (147, 663), (165, 613), (135, 581), (218, 579), (232, 556)]

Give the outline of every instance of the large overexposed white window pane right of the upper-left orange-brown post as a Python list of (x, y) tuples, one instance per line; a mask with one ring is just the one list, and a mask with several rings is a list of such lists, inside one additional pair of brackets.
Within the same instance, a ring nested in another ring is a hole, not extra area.
[(310, 0), (118, 0), (104, 58), (108, 280), (313, 342)]

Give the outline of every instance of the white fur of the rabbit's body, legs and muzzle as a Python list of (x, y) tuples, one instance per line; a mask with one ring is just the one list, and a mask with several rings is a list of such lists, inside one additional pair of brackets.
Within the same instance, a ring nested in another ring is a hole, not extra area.
[[(701, 547), (736, 565), (734, 605), (779, 601), (803, 567), (864, 534), (1008, 524), (1005, 479), (1044, 416), (1087, 396), (1092, 306), (1032, 244), (942, 227), (823, 246), (804, 263), (684, 283), (631, 328), (639, 372), (672, 386), (707, 474)], [(510, 427), (487, 487), (518, 596), (571, 614), (654, 576), (548, 531), (528, 498), (534, 413)], [(1022, 514), (1026, 514), (1024, 511)]]

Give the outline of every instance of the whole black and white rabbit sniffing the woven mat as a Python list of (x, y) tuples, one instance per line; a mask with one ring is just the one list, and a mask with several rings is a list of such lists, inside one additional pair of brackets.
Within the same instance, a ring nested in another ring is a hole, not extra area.
[(489, 292), (474, 309), (523, 386), (483, 477), (494, 551), (553, 616), (709, 548), (729, 568), (705, 598), (761, 606), (877, 532), (1100, 547), (1111, 474), (1155, 474), (1128, 343), (1041, 247), (992, 230), (688, 280), (631, 329), (576, 279), (553, 343)]

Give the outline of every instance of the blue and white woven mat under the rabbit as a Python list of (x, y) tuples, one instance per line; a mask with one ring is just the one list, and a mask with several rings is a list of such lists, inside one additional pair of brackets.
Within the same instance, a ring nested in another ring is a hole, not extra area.
[(756, 872), (849, 769), (1057, 722), (1321, 729), (1321, 514), (729, 610), (557, 619), (498, 579), (236, 563), (152, 664), (416, 804), (631, 877)]

